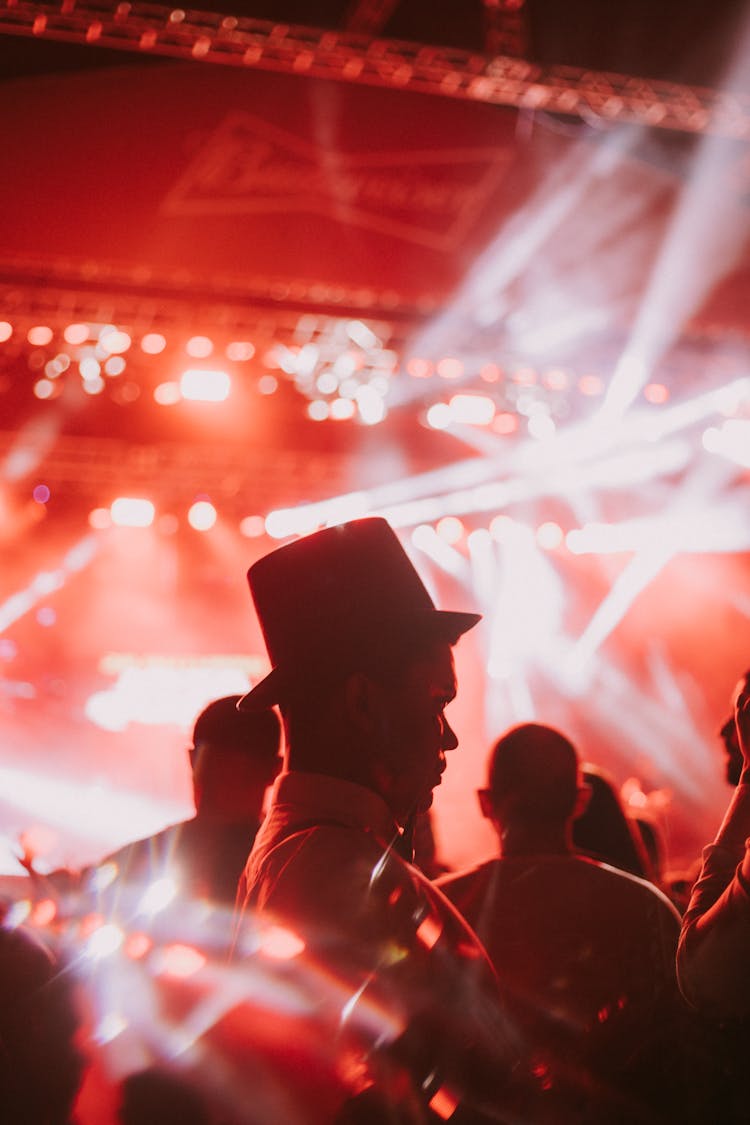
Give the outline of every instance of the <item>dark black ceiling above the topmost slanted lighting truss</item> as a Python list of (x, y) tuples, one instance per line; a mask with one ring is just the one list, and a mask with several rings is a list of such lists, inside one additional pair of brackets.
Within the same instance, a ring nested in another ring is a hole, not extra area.
[[(54, 11), (56, 4), (29, 4)], [(509, 43), (513, 21), (524, 57), (543, 65), (591, 68), (650, 79), (712, 86), (722, 80), (747, 7), (737, 0), (526, 0), (518, 11), (481, 0), (208, 0), (196, 10), (275, 24), (349, 30), (469, 52)], [(105, 6), (102, 6), (103, 10)], [(48, 73), (117, 65), (117, 53), (75, 44), (0, 37), (0, 74)]]

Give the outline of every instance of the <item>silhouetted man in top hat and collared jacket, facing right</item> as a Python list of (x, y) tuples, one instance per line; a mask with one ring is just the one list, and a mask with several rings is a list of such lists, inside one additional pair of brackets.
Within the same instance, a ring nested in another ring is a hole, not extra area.
[(497, 1098), (469, 1069), (486, 1073), (490, 1043), (496, 1072), (507, 1062), (496, 986), (473, 934), (408, 862), (408, 836), (458, 746), (452, 646), (479, 618), (436, 610), (380, 519), (287, 544), (249, 583), (272, 670), (240, 706), (279, 704), (287, 762), (245, 908), (293, 930), (337, 982), (346, 1051), (361, 1046), (362, 1084), (374, 1083), (371, 1115), (342, 1120), (426, 1120), (451, 1099), (469, 1113)]

